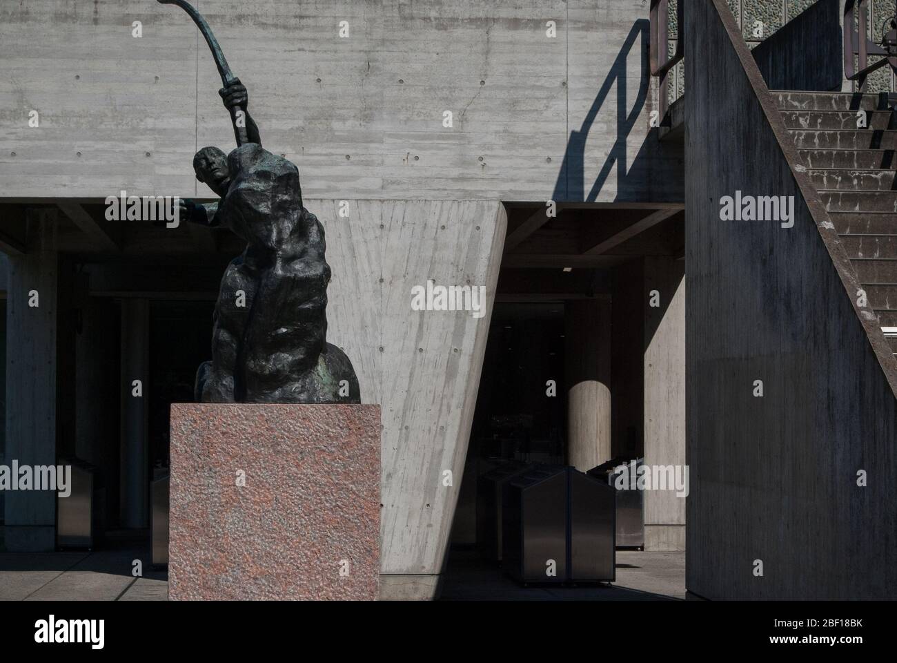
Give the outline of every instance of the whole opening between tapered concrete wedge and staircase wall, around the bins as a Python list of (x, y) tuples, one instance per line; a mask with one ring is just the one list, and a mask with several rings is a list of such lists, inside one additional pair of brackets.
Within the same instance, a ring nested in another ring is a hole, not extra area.
[(574, 467), (606, 486), (597, 468), (608, 464), (684, 464), (681, 206), (544, 210), (508, 206), (441, 597), (683, 598), (684, 500), (668, 495), (639, 495), (644, 552), (622, 549), (612, 528), (613, 585), (527, 586), (502, 568), (496, 495), (525, 490), (534, 467)]

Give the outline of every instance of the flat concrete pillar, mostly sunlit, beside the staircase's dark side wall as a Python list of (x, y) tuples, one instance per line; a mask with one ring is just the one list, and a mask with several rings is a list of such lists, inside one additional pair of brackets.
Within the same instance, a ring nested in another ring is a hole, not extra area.
[[(675, 472), (685, 465), (684, 266), (645, 259), (645, 464)], [(645, 491), (645, 550), (684, 549), (685, 498)]]

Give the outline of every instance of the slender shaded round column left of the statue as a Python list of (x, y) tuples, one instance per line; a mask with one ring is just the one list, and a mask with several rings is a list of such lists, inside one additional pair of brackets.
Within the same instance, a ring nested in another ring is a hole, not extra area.
[[(150, 304), (121, 303), (121, 470), (119, 515), (124, 527), (148, 525), (149, 451), (146, 443)], [(140, 380), (142, 396), (134, 395)]]

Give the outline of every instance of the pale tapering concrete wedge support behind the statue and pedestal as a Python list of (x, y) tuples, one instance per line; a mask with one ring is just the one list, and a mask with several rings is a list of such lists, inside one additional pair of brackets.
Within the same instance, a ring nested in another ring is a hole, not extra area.
[[(327, 340), (352, 359), (361, 402), (381, 405), (381, 597), (430, 598), (464, 472), (505, 209), (484, 200), (305, 204), (324, 225), (333, 269)], [(482, 309), (413, 310), (412, 288), (428, 280), (484, 287)]]

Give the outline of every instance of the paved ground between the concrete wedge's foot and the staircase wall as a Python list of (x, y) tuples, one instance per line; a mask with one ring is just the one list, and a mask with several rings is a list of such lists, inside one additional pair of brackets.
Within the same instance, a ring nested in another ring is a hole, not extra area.
[(617, 551), (616, 581), (581, 587), (523, 587), (473, 551), (452, 551), (444, 600), (673, 601), (685, 598), (685, 553)]

